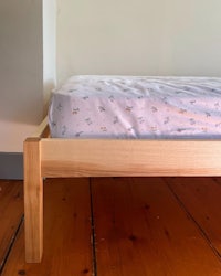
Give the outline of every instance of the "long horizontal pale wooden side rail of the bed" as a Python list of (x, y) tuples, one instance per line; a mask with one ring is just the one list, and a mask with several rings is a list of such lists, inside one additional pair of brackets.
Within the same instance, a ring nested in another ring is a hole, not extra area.
[(42, 139), (44, 177), (221, 176), (220, 140)]

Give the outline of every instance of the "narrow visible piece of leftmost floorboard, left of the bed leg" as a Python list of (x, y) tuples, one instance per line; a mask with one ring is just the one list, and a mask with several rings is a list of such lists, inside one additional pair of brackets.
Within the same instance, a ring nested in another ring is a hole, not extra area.
[(22, 181), (0, 181), (0, 272), (23, 216)]

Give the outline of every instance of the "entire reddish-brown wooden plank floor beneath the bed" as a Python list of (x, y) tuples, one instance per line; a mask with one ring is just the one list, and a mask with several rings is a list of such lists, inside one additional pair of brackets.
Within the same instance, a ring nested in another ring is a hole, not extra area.
[(44, 255), (24, 263), (21, 181), (0, 181), (2, 276), (221, 275), (220, 178), (48, 179)]

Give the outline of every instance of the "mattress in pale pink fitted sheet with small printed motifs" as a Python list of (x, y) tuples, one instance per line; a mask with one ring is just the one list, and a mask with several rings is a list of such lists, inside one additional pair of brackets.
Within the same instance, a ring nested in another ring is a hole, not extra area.
[(221, 138), (221, 78), (73, 76), (52, 93), (54, 138)]

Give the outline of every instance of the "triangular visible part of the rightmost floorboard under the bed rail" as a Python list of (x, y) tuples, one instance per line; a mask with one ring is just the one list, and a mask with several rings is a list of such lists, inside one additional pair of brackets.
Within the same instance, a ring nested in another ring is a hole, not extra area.
[(221, 255), (221, 179), (166, 178), (165, 181)]

